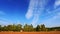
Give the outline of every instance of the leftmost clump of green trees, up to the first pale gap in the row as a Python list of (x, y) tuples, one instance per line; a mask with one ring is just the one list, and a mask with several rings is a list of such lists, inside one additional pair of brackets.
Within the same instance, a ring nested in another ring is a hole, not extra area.
[(18, 24), (18, 25), (7, 25), (7, 26), (0, 26), (0, 31), (20, 31), (22, 29), (22, 25)]

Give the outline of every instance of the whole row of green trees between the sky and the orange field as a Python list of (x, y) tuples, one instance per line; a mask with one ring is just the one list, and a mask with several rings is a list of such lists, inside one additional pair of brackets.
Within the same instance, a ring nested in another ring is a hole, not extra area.
[(24, 32), (40, 32), (40, 31), (60, 31), (60, 27), (51, 27), (51, 28), (47, 28), (45, 27), (44, 24), (42, 25), (37, 25), (36, 27), (33, 27), (33, 25), (28, 25), (25, 24), (24, 26), (22, 26), (21, 24), (13, 24), (13, 25), (7, 25), (7, 26), (2, 26), (0, 25), (0, 32), (1, 31), (24, 31)]

